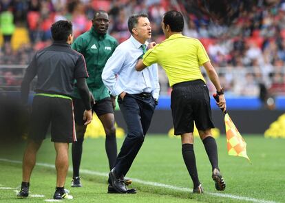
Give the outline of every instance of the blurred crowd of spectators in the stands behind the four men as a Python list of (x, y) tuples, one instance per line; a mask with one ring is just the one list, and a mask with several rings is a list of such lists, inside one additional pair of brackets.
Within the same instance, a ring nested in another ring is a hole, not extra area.
[[(72, 21), (74, 36), (89, 30), (95, 10), (109, 13), (109, 34), (119, 43), (130, 36), (131, 14), (149, 14), (152, 39), (165, 39), (162, 15), (180, 10), (187, 36), (200, 39), (227, 96), (285, 95), (285, 0), (1, 0), (0, 89), (19, 91), (34, 52), (50, 45), (54, 21)], [(226, 3), (225, 3), (226, 2)], [(230, 3), (228, 3), (230, 2)], [(222, 3), (219, 5), (219, 3)], [(161, 94), (168, 95), (160, 68)], [(213, 85), (209, 89), (214, 92)]]

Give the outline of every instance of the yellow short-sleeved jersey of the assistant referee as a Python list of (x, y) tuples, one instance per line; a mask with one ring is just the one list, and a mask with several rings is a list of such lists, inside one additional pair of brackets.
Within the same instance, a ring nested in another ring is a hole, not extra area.
[(168, 39), (148, 50), (143, 63), (149, 66), (158, 63), (165, 70), (169, 85), (201, 79), (200, 66), (210, 61), (204, 46), (198, 39), (182, 34), (172, 34)]

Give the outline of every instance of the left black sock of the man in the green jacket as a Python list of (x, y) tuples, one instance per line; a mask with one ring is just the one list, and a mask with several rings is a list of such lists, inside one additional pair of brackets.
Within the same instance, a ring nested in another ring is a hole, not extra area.
[(73, 178), (79, 176), (79, 167), (82, 156), (84, 138), (78, 138), (77, 142), (72, 143), (72, 167), (73, 167)]

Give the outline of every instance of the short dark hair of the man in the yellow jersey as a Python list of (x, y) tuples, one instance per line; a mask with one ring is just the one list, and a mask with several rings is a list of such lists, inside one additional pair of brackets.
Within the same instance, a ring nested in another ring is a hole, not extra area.
[(184, 28), (184, 19), (181, 14), (181, 12), (177, 10), (170, 10), (165, 13), (165, 16), (163, 17), (163, 23), (166, 25), (169, 25), (170, 30), (172, 32), (182, 32)]

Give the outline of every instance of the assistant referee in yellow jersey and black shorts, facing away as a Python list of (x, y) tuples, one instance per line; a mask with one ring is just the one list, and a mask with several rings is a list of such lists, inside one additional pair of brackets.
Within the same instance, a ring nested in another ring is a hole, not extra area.
[(215, 188), (223, 191), (226, 184), (218, 167), (218, 149), (211, 134), (211, 128), (214, 125), (211, 117), (209, 89), (200, 66), (203, 65), (207, 70), (207, 75), (219, 95), (220, 102), (217, 105), (225, 111), (224, 90), (202, 43), (198, 39), (183, 36), (183, 27), (184, 20), (180, 12), (175, 10), (166, 12), (162, 19), (165, 41), (154, 47), (151, 45), (143, 59), (138, 60), (136, 70), (141, 71), (151, 64), (158, 63), (169, 78), (169, 84), (173, 89), (171, 111), (174, 133), (181, 136), (182, 156), (193, 181), (193, 193), (203, 193), (193, 150), (194, 122), (212, 165)]

